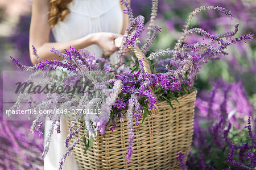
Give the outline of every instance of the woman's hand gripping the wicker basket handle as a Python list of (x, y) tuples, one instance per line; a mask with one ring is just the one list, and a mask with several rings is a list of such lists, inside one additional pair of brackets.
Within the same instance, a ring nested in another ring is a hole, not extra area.
[(105, 56), (112, 55), (119, 47), (115, 45), (114, 40), (121, 37), (121, 34), (114, 34), (110, 32), (97, 32), (93, 35), (94, 43), (101, 48)]

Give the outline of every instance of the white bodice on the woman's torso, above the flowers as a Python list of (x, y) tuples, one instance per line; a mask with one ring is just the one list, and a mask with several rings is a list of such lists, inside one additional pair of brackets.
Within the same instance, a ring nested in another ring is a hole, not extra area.
[[(71, 11), (63, 22), (52, 28), (56, 42), (68, 42), (94, 32), (113, 32), (121, 34), (123, 14), (119, 0), (73, 0), (68, 5)], [(101, 49), (93, 44), (86, 47), (101, 57)], [(113, 63), (110, 56), (110, 62)]]

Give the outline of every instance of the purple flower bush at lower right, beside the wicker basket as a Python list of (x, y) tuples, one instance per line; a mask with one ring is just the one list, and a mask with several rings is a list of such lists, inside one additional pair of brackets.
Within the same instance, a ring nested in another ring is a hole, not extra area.
[[(195, 132), (189, 169), (254, 169), (255, 110), (241, 82), (218, 80), (196, 99)], [(241, 126), (243, 125), (243, 126)], [(245, 126), (247, 125), (247, 126)]]

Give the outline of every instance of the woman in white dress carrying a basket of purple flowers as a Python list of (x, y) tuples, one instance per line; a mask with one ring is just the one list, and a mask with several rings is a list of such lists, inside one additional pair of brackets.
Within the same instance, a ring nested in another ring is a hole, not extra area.
[[(76, 49), (86, 48), (96, 57), (110, 56), (118, 47), (114, 39), (122, 39), (128, 26), (128, 16), (123, 14), (119, 0), (34, 0), (30, 24), (30, 59), (33, 64), (38, 60), (33, 54), (32, 45), (37, 49), (42, 60), (63, 60), (53, 55), (50, 49), (65, 52), (69, 46)], [(52, 29), (56, 43), (49, 43), (49, 32)], [(46, 121), (45, 136), (51, 122)], [(61, 134), (53, 132), (49, 152), (44, 159), (44, 169), (59, 169), (59, 161), (65, 150), (64, 140), (68, 131), (61, 122)], [(68, 156), (63, 169), (77, 169), (72, 156)]]

